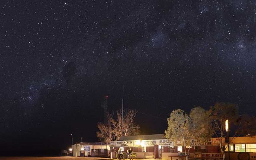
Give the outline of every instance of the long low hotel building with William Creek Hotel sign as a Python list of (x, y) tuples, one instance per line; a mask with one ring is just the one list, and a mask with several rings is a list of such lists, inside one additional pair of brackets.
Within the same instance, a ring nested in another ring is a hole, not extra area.
[[(220, 160), (220, 138), (211, 138), (206, 142), (193, 140), (189, 158), (193, 160)], [(225, 139), (223, 138), (223, 146)], [(111, 141), (111, 158), (115, 159), (115, 151), (121, 148), (126, 152), (131, 147), (137, 159), (169, 159), (182, 160), (185, 158), (185, 149), (181, 142), (173, 142), (164, 137), (164, 134), (122, 136), (118, 141)]]

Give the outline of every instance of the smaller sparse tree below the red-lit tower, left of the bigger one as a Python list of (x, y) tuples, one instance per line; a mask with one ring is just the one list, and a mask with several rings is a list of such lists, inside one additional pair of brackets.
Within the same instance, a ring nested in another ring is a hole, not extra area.
[(114, 140), (114, 132), (113, 132), (114, 128), (111, 125), (111, 119), (113, 117), (113, 114), (107, 113), (107, 115), (108, 115), (107, 122), (105, 124), (101, 122), (97, 124), (99, 131), (97, 131), (96, 134), (97, 134), (97, 137), (100, 139), (100, 141), (107, 144), (107, 149), (108, 149), (108, 143)]

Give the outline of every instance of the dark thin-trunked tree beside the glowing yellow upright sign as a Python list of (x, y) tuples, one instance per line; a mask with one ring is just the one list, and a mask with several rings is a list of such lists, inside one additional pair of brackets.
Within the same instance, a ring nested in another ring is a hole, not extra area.
[[(220, 138), (220, 151), (225, 159), (225, 147), (222, 147), (223, 138), (226, 136), (225, 121), (228, 120), (229, 124), (237, 124), (239, 119), (238, 107), (232, 103), (216, 102), (209, 110), (212, 119), (212, 130), (216, 137)], [(229, 126), (231, 128), (231, 126)], [(236, 133), (234, 134), (234, 136)], [(234, 137), (233, 136), (233, 137)]]

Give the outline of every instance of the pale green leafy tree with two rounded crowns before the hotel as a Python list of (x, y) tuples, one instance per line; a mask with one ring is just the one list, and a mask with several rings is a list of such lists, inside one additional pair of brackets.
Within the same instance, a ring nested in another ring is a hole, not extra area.
[[(209, 112), (201, 107), (193, 108), (189, 115), (181, 109), (174, 110), (167, 119), (166, 138), (175, 142), (181, 141), (186, 160), (188, 160), (189, 151), (195, 139), (205, 141), (211, 138), (210, 120)], [(188, 151), (186, 151), (187, 146)]]

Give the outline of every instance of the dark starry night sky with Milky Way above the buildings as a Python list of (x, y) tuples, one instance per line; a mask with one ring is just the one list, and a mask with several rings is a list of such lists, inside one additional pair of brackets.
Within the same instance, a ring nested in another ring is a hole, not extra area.
[[(252, 0), (3, 0), (0, 143), (5, 154), (58, 154), (95, 142), (101, 103), (135, 108), (143, 134), (169, 113), (215, 102), (255, 113)], [(3, 153), (3, 152), (1, 152)]]

